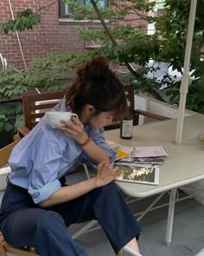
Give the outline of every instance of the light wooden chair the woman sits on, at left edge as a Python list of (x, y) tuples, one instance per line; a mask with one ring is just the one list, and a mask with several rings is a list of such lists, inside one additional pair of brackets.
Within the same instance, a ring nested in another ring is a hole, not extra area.
[[(0, 149), (0, 167), (3, 167), (7, 164), (12, 149), (16, 146), (17, 142), (20, 141), (21, 138), (19, 135), (14, 135), (14, 142), (10, 143), (10, 145)], [(28, 248), (16, 248), (14, 246), (10, 246), (4, 238), (3, 234), (0, 231), (0, 256), (8, 256), (8, 253), (15, 254), (17, 256), (34, 256), (38, 255), (35, 253), (35, 250), (31, 247)]]

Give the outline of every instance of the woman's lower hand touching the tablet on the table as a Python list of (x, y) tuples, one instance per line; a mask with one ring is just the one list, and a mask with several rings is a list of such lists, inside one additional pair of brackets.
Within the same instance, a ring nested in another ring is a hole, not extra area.
[(97, 167), (97, 187), (102, 187), (112, 182), (121, 170), (118, 167), (112, 167), (108, 161), (101, 161)]

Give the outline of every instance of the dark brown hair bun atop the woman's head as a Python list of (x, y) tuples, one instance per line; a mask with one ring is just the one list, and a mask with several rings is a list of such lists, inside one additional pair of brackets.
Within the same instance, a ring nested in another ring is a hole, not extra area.
[(109, 64), (106, 62), (105, 57), (99, 56), (81, 66), (77, 70), (77, 75), (81, 82), (88, 82), (101, 79), (109, 70)]

